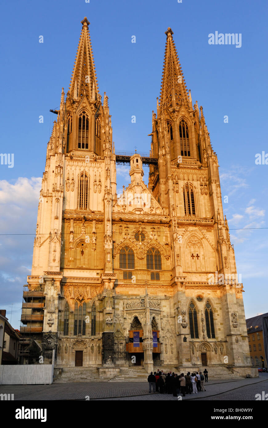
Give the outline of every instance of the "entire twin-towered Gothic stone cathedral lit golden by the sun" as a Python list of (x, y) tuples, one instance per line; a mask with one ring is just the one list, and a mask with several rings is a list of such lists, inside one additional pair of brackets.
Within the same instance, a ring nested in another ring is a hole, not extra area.
[[(251, 373), (217, 155), (166, 31), (150, 155), (116, 154), (89, 22), (47, 146), (21, 362)], [(116, 164), (131, 183), (116, 190)], [(149, 183), (143, 182), (143, 163)], [(220, 280), (219, 280), (220, 279)]]

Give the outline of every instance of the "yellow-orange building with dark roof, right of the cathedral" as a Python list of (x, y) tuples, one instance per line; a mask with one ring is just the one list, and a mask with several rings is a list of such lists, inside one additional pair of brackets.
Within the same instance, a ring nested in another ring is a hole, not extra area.
[(262, 332), (262, 318), (267, 316), (268, 312), (246, 319), (251, 364), (261, 368), (267, 367)]

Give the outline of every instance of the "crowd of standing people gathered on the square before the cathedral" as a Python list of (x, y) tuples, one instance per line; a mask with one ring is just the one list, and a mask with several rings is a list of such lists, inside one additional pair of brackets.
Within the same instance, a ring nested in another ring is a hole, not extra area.
[(181, 373), (164, 373), (157, 369), (157, 372), (151, 372), (148, 376), (149, 392), (160, 392), (161, 394), (173, 394), (177, 397), (179, 393), (185, 397), (185, 394), (197, 394), (198, 392), (205, 391), (204, 380), (208, 382), (207, 369), (202, 372), (190, 372), (187, 375)]

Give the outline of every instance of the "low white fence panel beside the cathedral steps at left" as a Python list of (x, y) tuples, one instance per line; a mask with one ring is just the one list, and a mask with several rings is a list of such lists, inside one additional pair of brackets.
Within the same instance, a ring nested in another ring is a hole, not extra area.
[(0, 385), (33, 385), (53, 382), (54, 364), (2, 365)]

